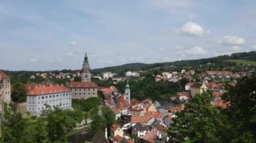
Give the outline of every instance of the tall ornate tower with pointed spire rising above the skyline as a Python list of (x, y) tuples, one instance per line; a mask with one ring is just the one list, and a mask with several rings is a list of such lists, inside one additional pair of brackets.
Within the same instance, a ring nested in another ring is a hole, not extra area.
[(84, 64), (82, 68), (82, 75), (81, 75), (82, 82), (91, 81), (91, 73), (90, 73), (90, 65), (87, 58), (87, 54), (84, 57)]

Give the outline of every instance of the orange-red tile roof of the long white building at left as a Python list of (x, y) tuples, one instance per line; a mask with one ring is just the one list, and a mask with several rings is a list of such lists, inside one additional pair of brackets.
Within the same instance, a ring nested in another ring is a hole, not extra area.
[(52, 86), (52, 87), (35, 87), (30, 90), (27, 95), (47, 95), (52, 93), (67, 93), (70, 89), (64, 86)]

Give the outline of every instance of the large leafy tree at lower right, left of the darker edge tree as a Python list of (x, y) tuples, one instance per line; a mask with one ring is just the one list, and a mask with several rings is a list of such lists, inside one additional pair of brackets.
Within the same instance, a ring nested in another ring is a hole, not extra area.
[(211, 92), (195, 95), (193, 101), (185, 103), (183, 111), (173, 118), (174, 126), (168, 134), (172, 142), (221, 142), (218, 136), (223, 124), (219, 107), (212, 107)]

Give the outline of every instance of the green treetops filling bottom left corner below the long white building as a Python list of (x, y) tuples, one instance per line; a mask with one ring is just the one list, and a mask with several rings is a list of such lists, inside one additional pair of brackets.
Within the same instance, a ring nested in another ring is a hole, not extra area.
[(80, 123), (82, 111), (48, 109), (44, 117), (23, 117), (15, 105), (5, 104), (5, 120), (1, 122), (2, 142), (65, 142), (67, 135)]

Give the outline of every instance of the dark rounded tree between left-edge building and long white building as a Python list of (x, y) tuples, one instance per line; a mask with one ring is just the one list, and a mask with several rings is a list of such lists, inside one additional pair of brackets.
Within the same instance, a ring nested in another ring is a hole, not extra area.
[(13, 85), (13, 93), (11, 95), (13, 101), (24, 102), (26, 101), (26, 88), (23, 83), (15, 83)]

